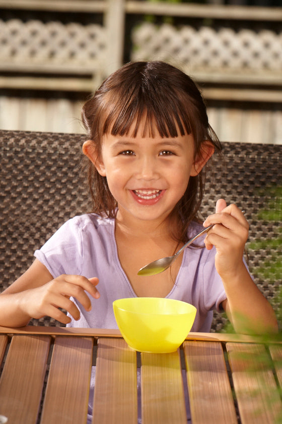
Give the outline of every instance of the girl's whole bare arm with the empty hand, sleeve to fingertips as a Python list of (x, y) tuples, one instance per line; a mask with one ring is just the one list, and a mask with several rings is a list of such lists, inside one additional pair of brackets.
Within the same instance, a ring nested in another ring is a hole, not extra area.
[(91, 302), (86, 291), (98, 298), (97, 284), (97, 278), (77, 275), (53, 279), (46, 267), (35, 259), (31, 267), (0, 294), (0, 325), (22, 327), (31, 318), (38, 319), (44, 315), (63, 324), (69, 323), (70, 318), (58, 308), (65, 309), (78, 320), (80, 312), (69, 297), (76, 297), (86, 310), (90, 310)]

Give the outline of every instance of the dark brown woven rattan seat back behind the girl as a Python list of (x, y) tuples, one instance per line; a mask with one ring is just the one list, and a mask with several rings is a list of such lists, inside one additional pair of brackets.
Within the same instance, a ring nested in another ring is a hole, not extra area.
[[(39, 248), (68, 218), (89, 212), (88, 188), (81, 175), (83, 135), (0, 131), (0, 290), (18, 278), (33, 261)], [(260, 209), (270, 202), (279, 204), (265, 188), (282, 185), (282, 146), (223, 143), (225, 161), (215, 155), (207, 176), (202, 216), (215, 210), (219, 197), (246, 210), (250, 224), (249, 240), (274, 239), (281, 226), (278, 219), (258, 219)], [(273, 205), (271, 206), (273, 208)], [(277, 206), (278, 207), (278, 206)], [(281, 246), (248, 250), (249, 267), (264, 295), (272, 300), (280, 281), (262, 279), (257, 267), (271, 256), (281, 256)], [(244, 293), (242, 293), (244, 296)], [(34, 325), (60, 325), (45, 317)], [(215, 314), (213, 330), (225, 324)]]

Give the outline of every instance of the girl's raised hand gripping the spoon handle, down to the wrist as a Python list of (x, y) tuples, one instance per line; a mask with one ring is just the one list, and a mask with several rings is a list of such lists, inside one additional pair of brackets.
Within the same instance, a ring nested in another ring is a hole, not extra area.
[(219, 199), (216, 213), (210, 215), (203, 223), (204, 227), (215, 224), (207, 233), (204, 243), (208, 250), (216, 247), (216, 269), (224, 278), (234, 276), (244, 267), (243, 253), (248, 239), (249, 224), (242, 211), (235, 205), (226, 205)]

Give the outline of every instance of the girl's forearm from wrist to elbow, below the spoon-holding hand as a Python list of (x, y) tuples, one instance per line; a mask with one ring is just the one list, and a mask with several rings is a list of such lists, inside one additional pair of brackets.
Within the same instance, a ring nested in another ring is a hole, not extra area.
[(227, 294), (226, 312), (237, 333), (266, 334), (278, 331), (270, 303), (251, 279), (246, 267), (223, 278)]

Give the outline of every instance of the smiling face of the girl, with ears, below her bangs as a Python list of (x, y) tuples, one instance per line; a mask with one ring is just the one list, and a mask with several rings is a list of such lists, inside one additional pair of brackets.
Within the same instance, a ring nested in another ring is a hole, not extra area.
[(207, 158), (203, 155), (195, 161), (191, 134), (152, 138), (144, 136), (143, 129), (133, 138), (106, 134), (100, 158), (87, 143), (84, 152), (107, 178), (119, 216), (159, 224), (185, 193), (190, 176), (197, 175), (213, 153), (208, 151)]

